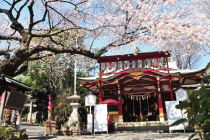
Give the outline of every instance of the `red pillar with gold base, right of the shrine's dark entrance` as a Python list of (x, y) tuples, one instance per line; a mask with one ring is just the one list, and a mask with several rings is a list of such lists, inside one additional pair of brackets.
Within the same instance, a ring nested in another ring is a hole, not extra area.
[(163, 112), (163, 102), (162, 102), (162, 96), (160, 92), (160, 78), (157, 77), (157, 92), (158, 92), (158, 107), (159, 107), (159, 118), (160, 121), (164, 121), (164, 112)]

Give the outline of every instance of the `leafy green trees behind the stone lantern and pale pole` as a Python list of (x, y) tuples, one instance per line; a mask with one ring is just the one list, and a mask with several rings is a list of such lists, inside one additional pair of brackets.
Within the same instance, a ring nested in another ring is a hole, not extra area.
[[(82, 41), (81, 39), (79, 41)], [(67, 61), (68, 59), (66, 59), (66, 57), (67, 55), (65, 54), (58, 54), (54, 55), (53, 59), (45, 58), (44, 61), (30, 62), (28, 70), (24, 72), (22, 76), (17, 77), (17, 80), (28, 84), (33, 89), (33, 91), (28, 92), (28, 94), (31, 94), (33, 98), (37, 99), (36, 104), (38, 111), (48, 111), (47, 95), (51, 95), (53, 104), (51, 112), (52, 119), (56, 116), (63, 120), (63, 118), (68, 118), (72, 112), (72, 107), (69, 105), (69, 101), (66, 97), (73, 95), (74, 91), (74, 60), (71, 59)], [(62, 67), (59, 67), (60, 65), (62, 65)], [(83, 71), (84, 69), (82, 69), (82, 64), (78, 64), (79, 72), (77, 72), (77, 77), (86, 77), (89, 75), (89, 71), (96, 68), (95, 65), (85, 65), (85, 67), (86, 73)], [(76, 83), (76, 91), (82, 98), (80, 101), (81, 107), (78, 112), (83, 122), (86, 122), (84, 96), (88, 93), (86, 88), (80, 86), (79, 82)], [(66, 104), (66, 106), (60, 106), (61, 104)]]

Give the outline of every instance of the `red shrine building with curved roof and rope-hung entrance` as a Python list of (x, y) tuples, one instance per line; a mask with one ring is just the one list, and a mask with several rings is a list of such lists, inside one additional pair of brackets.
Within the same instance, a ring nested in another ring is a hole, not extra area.
[(176, 100), (175, 91), (190, 91), (204, 85), (210, 66), (180, 70), (170, 51), (126, 54), (98, 58), (99, 76), (78, 78), (80, 84), (99, 98), (99, 104), (113, 100), (108, 113), (123, 122), (167, 120), (165, 101)]

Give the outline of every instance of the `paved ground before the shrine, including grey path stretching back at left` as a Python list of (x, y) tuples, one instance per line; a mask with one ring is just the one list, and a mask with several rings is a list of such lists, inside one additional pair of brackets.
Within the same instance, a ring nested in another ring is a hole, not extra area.
[(45, 127), (30, 124), (21, 124), (21, 129), (26, 129), (29, 139), (34, 140), (188, 140), (192, 133), (118, 133), (118, 134), (96, 134), (82, 136), (44, 136)]

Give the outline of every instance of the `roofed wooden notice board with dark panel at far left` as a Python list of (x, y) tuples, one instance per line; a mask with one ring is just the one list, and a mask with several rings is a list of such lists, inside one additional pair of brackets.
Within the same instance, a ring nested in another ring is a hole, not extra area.
[(31, 88), (12, 77), (5, 74), (0, 75), (0, 86), (3, 89), (0, 107), (0, 126), (2, 126), (2, 118), (4, 109), (18, 110), (18, 116), (16, 121), (16, 130), (20, 129), (21, 114), (27, 95), (25, 91), (30, 91)]

